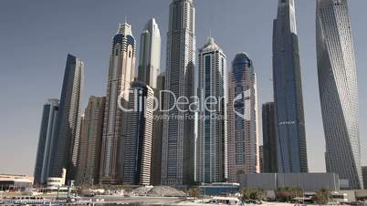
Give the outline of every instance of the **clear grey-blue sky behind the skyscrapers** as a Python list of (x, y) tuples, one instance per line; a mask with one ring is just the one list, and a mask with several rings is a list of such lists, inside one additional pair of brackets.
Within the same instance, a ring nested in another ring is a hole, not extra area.
[[(67, 54), (85, 63), (83, 109), (89, 96), (104, 96), (111, 38), (119, 23), (140, 34), (155, 17), (165, 70), (170, 0), (0, 1), (0, 173), (33, 174), (43, 104), (59, 98)], [(194, 0), (196, 47), (215, 37), (227, 57), (246, 52), (257, 72), (259, 111), (273, 99), (272, 24), (278, 0)], [(325, 171), (315, 46), (314, 0), (296, 0), (309, 171)], [(350, 0), (359, 79), (362, 164), (367, 165), (367, 1)], [(137, 50), (139, 51), (139, 50)], [(139, 53), (137, 53), (139, 54)], [(259, 117), (261, 118), (261, 113)], [(261, 127), (261, 119), (259, 119)], [(261, 131), (261, 128), (260, 128)], [(262, 134), (260, 134), (262, 139)]]

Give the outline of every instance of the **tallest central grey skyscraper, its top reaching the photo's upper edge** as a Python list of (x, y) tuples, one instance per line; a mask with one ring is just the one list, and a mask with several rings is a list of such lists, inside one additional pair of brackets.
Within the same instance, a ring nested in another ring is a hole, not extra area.
[[(173, 0), (167, 33), (166, 89), (176, 98), (194, 94), (195, 29), (193, 0)], [(184, 98), (181, 98), (184, 99)], [(171, 108), (175, 98), (165, 98)], [(194, 180), (194, 121), (188, 105), (167, 112), (163, 123), (162, 184), (184, 188)]]

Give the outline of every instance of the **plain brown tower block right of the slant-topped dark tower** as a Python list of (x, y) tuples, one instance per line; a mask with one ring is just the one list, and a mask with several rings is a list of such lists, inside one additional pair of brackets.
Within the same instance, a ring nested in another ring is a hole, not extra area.
[(79, 185), (99, 183), (100, 146), (106, 98), (90, 97), (82, 120), (77, 181)]

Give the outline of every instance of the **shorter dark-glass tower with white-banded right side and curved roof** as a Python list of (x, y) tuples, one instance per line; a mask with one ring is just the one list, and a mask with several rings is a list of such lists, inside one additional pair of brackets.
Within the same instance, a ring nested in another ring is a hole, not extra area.
[(150, 185), (154, 91), (145, 83), (131, 83), (126, 124), (124, 184)]

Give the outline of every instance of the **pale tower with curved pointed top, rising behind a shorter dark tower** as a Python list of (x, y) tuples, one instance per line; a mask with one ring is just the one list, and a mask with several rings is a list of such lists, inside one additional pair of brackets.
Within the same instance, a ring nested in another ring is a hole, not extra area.
[(157, 88), (160, 67), (161, 33), (155, 19), (152, 18), (142, 31), (138, 79), (151, 88)]

